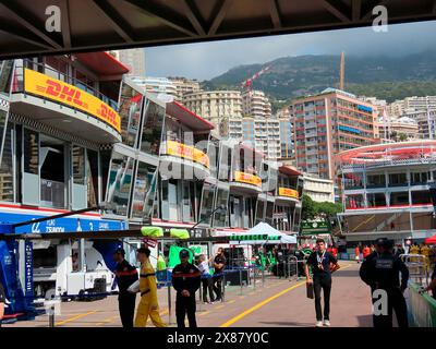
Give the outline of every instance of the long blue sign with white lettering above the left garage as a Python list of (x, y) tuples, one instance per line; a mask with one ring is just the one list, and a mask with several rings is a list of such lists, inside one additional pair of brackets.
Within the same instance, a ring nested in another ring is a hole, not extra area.
[[(31, 219), (43, 218), (43, 215), (28, 215), (20, 213), (1, 213), (0, 212), (0, 224), (14, 224), (26, 221)], [(40, 222), (31, 224), (27, 226), (17, 227), (16, 233), (44, 233), (44, 232), (72, 232), (72, 231), (105, 231), (105, 230), (125, 230), (128, 225), (122, 220), (102, 219), (96, 217), (90, 218), (77, 218), (77, 217), (65, 217), (45, 220)]]

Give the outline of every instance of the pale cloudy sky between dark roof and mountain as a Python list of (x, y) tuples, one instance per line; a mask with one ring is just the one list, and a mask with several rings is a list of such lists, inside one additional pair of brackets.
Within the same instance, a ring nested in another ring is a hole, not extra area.
[(241, 64), (302, 55), (403, 56), (436, 49), (436, 21), (146, 48), (148, 76), (208, 80)]

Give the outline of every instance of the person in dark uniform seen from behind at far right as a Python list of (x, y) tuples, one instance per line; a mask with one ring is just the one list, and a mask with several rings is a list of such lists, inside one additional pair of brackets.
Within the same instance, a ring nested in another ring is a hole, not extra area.
[[(408, 287), (409, 269), (405, 264), (392, 253), (393, 244), (386, 238), (376, 241), (376, 251), (363, 263), (360, 269), (361, 279), (371, 287), (373, 303), (378, 302), (385, 292), (387, 312), (373, 313), (374, 327), (392, 327), (392, 311), (395, 311), (399, 327), (409, 327), (405, 299), (403, 296)], [(399, 275), (401, 273), (401, 284)]]

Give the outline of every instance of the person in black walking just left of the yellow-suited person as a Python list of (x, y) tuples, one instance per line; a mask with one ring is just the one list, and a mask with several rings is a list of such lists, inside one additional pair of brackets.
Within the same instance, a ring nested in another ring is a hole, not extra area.
[(117, 262), (114, 274), (119, 288), (118, 303), (121, 323), (124, 328), (132, 328), (135, 315), (136, 293), (129, 292), (128, 288), (137, 281), (137, 270), (124, 260), (124, 255), (125, 252), (123, 249), (118, 249), (113, 253), (113, 261)]

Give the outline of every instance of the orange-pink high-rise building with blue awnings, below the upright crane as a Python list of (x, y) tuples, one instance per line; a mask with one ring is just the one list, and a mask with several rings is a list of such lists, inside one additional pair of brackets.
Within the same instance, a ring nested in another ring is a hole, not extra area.
[(373, 105), (335, 88), (294, 100), (296, 167), (319, 178), (335, 179), (337, 153), (376, 142), (376, 117)]

